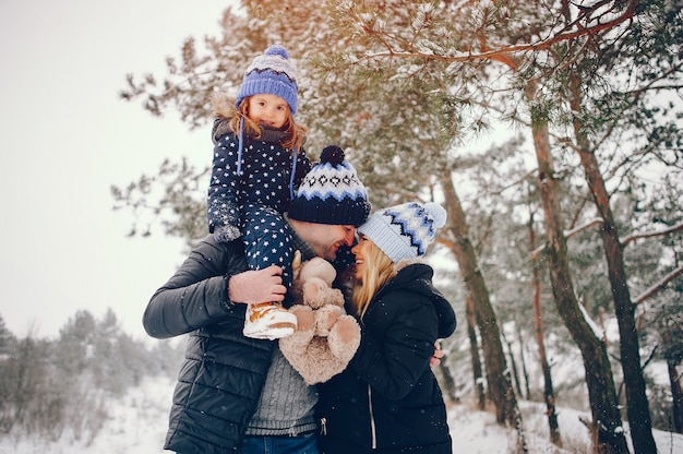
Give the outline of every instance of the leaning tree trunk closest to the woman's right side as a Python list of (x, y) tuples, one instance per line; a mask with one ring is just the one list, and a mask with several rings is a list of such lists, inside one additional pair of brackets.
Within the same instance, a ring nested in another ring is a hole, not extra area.
[(520, 430), (519, 422), (522, 416), (517, 408), (517, 399), (510, 380), (510, 373), (507, 372), (505, 355), (501, 344), (501, 333), (489, 299), (489, 290), (479, 271), (475, 250), (469, 241), (465, 212), (455, 192), (451, 172), (445, 171), (441, 176), (440, 181), (448, 212), (448, 224), (446, 227), (454, 237), (452, 242), (453, 252), (458, 262), (467, 292), (472, 300), (477, 325), (481, 334), (487, 383), (489, 395), (495, 405), (495, 417), (499, 423), (508, 422), (512, 427)]

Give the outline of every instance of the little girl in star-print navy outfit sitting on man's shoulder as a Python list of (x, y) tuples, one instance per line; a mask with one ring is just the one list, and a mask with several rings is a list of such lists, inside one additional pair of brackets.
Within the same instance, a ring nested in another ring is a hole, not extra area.
[[(283, 267), (291, 283), (290, 227), (283, 217), (311, 168), (302, 147), (305, 128), (295, 123), (297, 77), (281, 46), (271, 46), (244, 73), (235, 105), (216, 97), (215, 144), (208, 188), (208, 230), (217, 241), (242, 237), (252, 270)], [(276, 339), (293, 333), (297, 319), (281, 304), (248, 304), (243, 333)]]

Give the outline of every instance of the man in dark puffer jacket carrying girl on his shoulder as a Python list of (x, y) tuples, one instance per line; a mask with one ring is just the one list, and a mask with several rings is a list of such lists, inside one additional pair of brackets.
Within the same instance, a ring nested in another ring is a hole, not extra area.
[[(338, 147), (327, 147), (289, 207), (295, 250), (329, 261), (354, 246), (370, 203)], [(242, 241), (206, 237), (159, 288), (143, 315), (145, 331), (190, 333), (173, 393), (165, 449), (191, 453), (317, 453), (315, 404), (277, 342), (242, 335), (245, 307), (285, 301), (281, 270), (247, 271)], [(286, 302), (287, 306), (287, 302)]]

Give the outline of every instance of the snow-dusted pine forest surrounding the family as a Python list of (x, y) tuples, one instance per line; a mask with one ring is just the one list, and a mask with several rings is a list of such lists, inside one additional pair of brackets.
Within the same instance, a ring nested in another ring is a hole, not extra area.
[[(513, 439), (502, 452), (676, 452), (682, 5), (243, 0), (220, 36), (169, 48), (165, 74), (130, 74), (120, 96), (197, 128), (214, 92), (235, 94), (252, 58), (284, 45), (307, 153), (342, 146), (374, 208), (448, 213), (428, 259), (458, 315), (435, 370), (450, 407), (490, 414)], [(203, 238), (209, 165), (169, 159), (112, 187), (129, 235)], [(95, 437), (103, 395), (173, 379), (180, 340), (136, 342), (113, 312), (79, 312), (55, 340), (0, 318), (0, 433)]]

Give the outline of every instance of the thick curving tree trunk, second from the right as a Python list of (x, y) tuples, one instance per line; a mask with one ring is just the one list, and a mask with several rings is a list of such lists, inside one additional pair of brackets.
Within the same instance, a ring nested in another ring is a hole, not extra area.
[[(534, 106), (536, 88), (532, 83), (527, 84), (526, 94), (529, 106)], [(550, 282), (560, 315), (582, 351), (592, 416), (591, 423), (597, 442), (595, 447), (597, 452), (604, 454), (627, 453), (628, 447), (619, 414), (614, 379), (604, 344), (586, 323), (574, 294), (554, 166), (550, 153), (548, 123), (540, 118), (534, 118), (532, 122), (539, 187), (548, 237), (546, 253), (549, 259)]]

